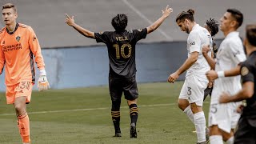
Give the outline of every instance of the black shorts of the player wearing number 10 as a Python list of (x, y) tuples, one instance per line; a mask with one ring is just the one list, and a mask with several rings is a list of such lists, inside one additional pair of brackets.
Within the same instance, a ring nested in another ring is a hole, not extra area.
[(112, 101), (120, 100), (122, 92), (127, 100), (134, 100), (138, 98), (138, 88), (136, 78), (118, 78), (109, 75), (109, 88)]

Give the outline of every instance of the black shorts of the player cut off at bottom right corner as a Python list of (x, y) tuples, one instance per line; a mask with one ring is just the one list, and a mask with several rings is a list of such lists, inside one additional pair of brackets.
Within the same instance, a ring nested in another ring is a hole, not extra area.
[(250, 126), (248, 119), (241, 116), (238, 122), (238, 130), (234, 134), (234, 144), (255, 144), (256, 127)]

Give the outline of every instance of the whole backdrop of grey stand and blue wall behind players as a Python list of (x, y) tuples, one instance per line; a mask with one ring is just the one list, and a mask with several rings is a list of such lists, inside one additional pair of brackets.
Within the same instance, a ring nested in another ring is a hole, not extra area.
[[(94, 39), (84, 38), (67, 26), (65, 14), (75, 16), (76, 22), (92, 31), (113, 30), (111, 18), (118, 13), (128, 15), (127, 29), (150, 26), (158, 19), (167, 4), (174, 13), (154, 33), (137, 46), (138, 82), (163, 82), (186, 59), (187, 34), (181, 32), (175, 18), (182, 10), (196, 10), (195, 19), (203, 25), (206, 19), (222, 17), (227, 8), (242, 10), (244, 24), (239, 29), (244, 35), (246, 24), (254, 23), (256, 1), (254, 0), (1, 0), (0, 4), (12, 2), (18, 6), (18, 22), (34, 28), (42, 46), (46, 71), (54, 89), (106, 85), (108, 82), (108, 58), (106, 46)], [(249, 4), (248, 4), (249, 3)], [(4, 26), (1, 21), (0, 27)], [(218, 45), (222, 32), (216, 35)], [(38, 75), (37, 75), (38, 76)], [(37, 77), (38, 78), (38, 77)], [(180, 80), (184, 79), (184, 74)], [(5, 90), (4, 74), (0, 77), (0, 91)], [(35, 86), (34, 86), (35, 88)]]

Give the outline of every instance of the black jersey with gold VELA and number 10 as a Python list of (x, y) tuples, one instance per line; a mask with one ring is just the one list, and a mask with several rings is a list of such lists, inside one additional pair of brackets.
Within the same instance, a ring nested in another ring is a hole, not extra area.
[(126, 78), (136, 74), (135, 45), (142, 38), (146, 38), (147, 30), (125, 30), (122, 33), (106, 31), (95, 33), (97, 42), (107, 46), (110, 59), (110, 74)]

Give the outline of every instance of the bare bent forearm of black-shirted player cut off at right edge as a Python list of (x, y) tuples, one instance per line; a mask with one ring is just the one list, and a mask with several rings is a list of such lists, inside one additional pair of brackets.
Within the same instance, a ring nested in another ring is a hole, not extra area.
[(245, 82), (242, 84), (242, 90), (240, 90), (234, 96), (230, 96), (230, 94), (222, 93), (219, 98), (220, 103), (227, 102), (240, 102), (244, 99), (251, 98), (254, 94), (254, 82)]

